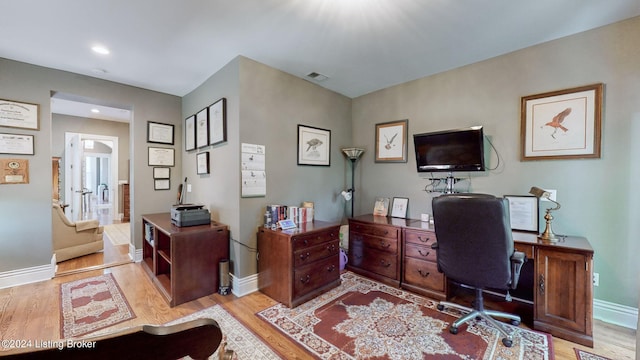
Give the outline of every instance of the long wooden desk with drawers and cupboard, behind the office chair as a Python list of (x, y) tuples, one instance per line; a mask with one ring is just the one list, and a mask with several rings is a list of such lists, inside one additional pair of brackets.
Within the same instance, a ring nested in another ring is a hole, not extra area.
[[(514, 232), (513, 239), (516, 250), (529, 259), (514, 299), (533, 307), (533, 328), (593, 347), (593, 248), (587, 239), (568, 236), (546, 243), (524, 232)], [(436, 241), (433, 226), (420, 220), (357, 216), (349, 219), (348, 269), (449, 299), (447, 279), (437, 271), (436, 252), (431, 250)], [(530, 280), (523, 281), (526, 278)]]

